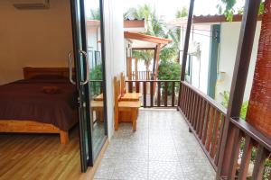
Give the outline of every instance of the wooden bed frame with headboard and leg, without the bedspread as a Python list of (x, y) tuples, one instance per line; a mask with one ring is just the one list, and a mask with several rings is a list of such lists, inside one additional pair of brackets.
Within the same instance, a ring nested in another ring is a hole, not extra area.
[[(74, 70), (73, 70), (74, 71)], [(67, 67), (23, 67), (24, 79), (29, 79), (37, 75), (58, 75), (69, 78), (69, 68)], [(77, 123), (77, 115), (72, 118), (70, 128)], [(61, 144), (69, 142), (69, 131), (60, 130), (58, 127), (38, 121), (25, 120), (1, 120), (0, 132), (25, 132), (25, 133), (59, 133)]]

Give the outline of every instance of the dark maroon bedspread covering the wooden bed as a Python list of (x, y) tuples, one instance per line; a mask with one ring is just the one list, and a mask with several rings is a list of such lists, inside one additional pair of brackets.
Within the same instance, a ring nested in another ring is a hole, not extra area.
[[(57, 87), (46, 94), (44, 87)], [(69, 130), (74, 121), (76, 87), (65, 79), (29, 79), (0, 85), (0, 121), (31, 120)]]

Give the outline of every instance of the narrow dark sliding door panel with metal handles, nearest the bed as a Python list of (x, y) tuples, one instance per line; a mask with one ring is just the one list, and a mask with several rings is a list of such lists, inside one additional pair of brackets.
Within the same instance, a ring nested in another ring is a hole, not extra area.
[[(79, 143), (81, 171), (86, 172), (88, 166), (92, 165), (93, 154), (91, 148), (91, 132), (89, 123), (89, 81), (87, 81), (88, 56), (86, 53), (86, 31), (85, 12), (82, 0), (70, 1), (73, 55), (76, 72), (75, 84), (78, 89), (78, 112), (79, 112)], [(69, 60), (70, 56), (69, 56)], [(71, 66), (70, 66), (71, 68)], [(70, 75), (70, 78), (73, 78)], [(72, 82), (72, 80), (71, 80)]]

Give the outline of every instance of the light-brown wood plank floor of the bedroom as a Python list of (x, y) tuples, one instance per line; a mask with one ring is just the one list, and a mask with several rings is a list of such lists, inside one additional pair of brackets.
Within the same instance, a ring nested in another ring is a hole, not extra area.
[[(58, 135), (0, 134), (0, 179), (91, 179), (80, 173), (78, 128), (70, 142)], [(93, 173), (92, 173), (93, 174)]]

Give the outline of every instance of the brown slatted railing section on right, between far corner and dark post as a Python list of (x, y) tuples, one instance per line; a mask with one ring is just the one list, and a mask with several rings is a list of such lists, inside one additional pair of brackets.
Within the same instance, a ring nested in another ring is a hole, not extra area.
[(182, 82), (180, 107), (211, 165), (217, 169), (226, 109), (186, 82)]

